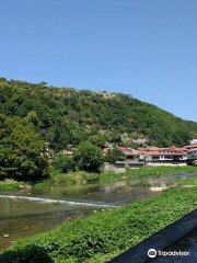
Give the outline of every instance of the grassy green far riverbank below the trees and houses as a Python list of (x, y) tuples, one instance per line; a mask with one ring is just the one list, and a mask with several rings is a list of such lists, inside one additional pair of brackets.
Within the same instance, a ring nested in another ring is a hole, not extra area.
[(84, 171), (59, 173), (53, 171), (47, 179), (36, 180), (15, 180), (15, 179), (1, 179), (0, 190), (11, 191), (19, 188), (43, 187), (46, 185), (71, 185), (71, 184), (85, 184), (93, 181), (111, 182), (121, 179), (143, 178), (149, 175), (160, 176), (163, 174), (175, 173), (193, 173), (197, 172), (197, 167), (143, 167), (140, 169), (127, 169), (124, 173), (115, 172), (101, 172), (101, 173), (88, 173)]

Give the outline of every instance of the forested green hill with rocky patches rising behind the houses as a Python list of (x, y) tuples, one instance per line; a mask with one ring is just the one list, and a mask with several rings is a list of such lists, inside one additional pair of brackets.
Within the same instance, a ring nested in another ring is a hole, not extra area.
[(197, 136), (197, 123), (183, 121), (120, 93), (78, 91), (0, 78), (0, 113), (34, 124), (56, 151), (90, 139), (118, 145), (182, 146)]

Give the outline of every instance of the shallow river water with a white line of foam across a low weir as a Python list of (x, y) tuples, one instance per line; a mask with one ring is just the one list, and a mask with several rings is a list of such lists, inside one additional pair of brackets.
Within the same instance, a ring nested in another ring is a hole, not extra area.
[(88, 216), (97, 210), (116, 209), (135, 201), (157, 195), (143, 187), (174, 184), (177, 178), (197, 173), (94, 182), (72, 186), (47, 186), (38, 190), (0, 191), (0, 251), (19, 238), (47, 231), (62, 221)]

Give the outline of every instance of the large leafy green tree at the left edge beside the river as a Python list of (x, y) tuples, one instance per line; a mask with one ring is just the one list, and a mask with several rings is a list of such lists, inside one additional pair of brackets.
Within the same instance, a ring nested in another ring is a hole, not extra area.
[(0, 172), (36, 176), (47, 171), (46, 144), (27, 119), (0, 114)]

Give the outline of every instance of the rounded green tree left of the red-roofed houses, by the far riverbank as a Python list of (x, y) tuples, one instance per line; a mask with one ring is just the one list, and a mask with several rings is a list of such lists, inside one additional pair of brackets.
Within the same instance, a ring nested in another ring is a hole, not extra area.
[(103, 153), (100, 147), (91, 141), (82, 141), (73, 152), (76, 164), (85, 171), (99, 171), (103, 163)]

